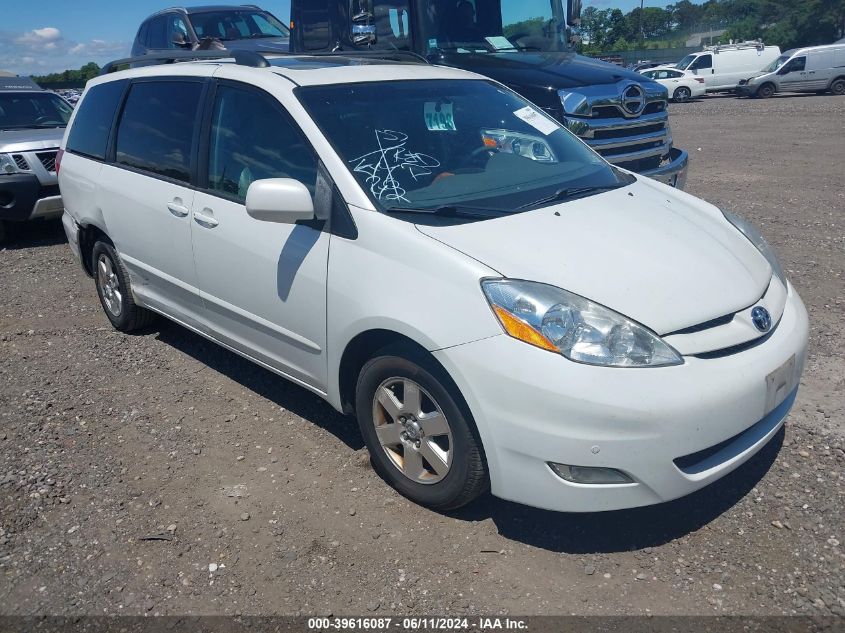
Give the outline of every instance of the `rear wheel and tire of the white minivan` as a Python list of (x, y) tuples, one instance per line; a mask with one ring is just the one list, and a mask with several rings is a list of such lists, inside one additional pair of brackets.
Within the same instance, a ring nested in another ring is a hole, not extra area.
[(154, 313), (135, 305), (129, 273), (111, 244), (94, 244), (91, 270), (94, 271), (94, 286), (100, 305), (115, 329), (134, 332), (148, 327), (155, 320)]

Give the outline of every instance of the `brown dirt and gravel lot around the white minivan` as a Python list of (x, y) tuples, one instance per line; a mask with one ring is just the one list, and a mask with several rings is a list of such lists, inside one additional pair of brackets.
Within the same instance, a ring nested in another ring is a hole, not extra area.
[(845, 614), (845, 98), (671, 109), (687, 189), (763, 228), (811, 317), (785, 433), (739, 471), (633, 511), (432, 513), (310, 393), (113, 331), (32, 226), (0, 250), (0, 612)]

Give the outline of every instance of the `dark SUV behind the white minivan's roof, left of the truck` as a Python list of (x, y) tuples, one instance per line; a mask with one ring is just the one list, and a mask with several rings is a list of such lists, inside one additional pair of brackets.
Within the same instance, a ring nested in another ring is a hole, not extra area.
[(164, 9), (141, 24), (132, 56), (167, 49), (287, 51), (290, 30), (255, 5)]

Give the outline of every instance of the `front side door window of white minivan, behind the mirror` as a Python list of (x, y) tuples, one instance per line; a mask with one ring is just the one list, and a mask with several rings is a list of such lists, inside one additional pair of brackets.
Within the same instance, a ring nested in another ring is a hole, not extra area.
[(294, 178), (311, 193), (317, 160), (281, 105), (256, 91), (221, 86), (211, 119), (208, 186), (241, 202), (263, 178)]

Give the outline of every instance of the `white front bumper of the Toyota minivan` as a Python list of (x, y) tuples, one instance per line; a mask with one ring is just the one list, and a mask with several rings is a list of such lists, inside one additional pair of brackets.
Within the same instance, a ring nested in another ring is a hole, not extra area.
[[(767, 376), (794, 355), (791, 378), (798, 384), (807, 333), (807, 312), (790, 287), (769, 338), (721, 358), (691, 356), (664, 368), (593, 367), (505, 335), (435, 356), (476, 420), (493, 494), (549, 510), (593, 512), (687, 495), (759, 451), (795, 397), (764, 415)], [(614, 468), (634, 483), (570, 483), (549, 462)]]

